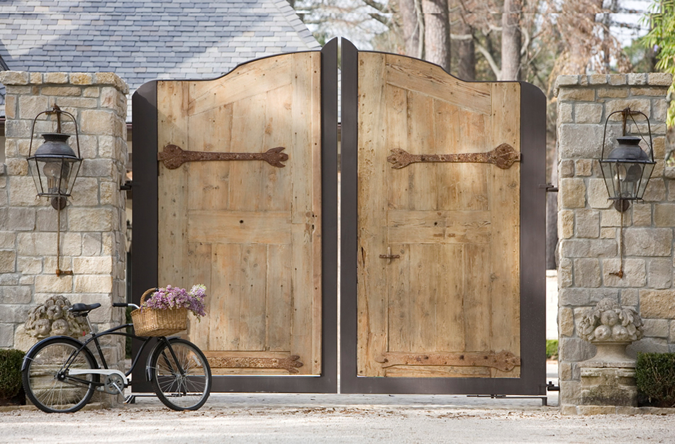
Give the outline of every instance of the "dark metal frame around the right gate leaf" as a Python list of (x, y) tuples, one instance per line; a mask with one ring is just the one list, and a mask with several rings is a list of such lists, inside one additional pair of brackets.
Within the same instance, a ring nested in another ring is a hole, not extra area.
[(358, 58), (342, 39), (340, 392), (391, 394), (546, 394), (545, 148), (546, 100), (520, 82), (520, 377), (358, 377)]

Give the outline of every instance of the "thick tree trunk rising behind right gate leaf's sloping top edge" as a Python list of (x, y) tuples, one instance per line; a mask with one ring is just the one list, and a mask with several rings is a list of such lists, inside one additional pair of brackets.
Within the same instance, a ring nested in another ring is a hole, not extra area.
[(450, 72), (450, 21), (447, 0), (422, 0), (424, 57)]

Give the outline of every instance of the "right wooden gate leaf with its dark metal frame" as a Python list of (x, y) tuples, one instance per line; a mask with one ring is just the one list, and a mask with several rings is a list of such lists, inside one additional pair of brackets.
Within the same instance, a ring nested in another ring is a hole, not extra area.
[(343, 40), (342, 392), (545, 394), (544, 106)]

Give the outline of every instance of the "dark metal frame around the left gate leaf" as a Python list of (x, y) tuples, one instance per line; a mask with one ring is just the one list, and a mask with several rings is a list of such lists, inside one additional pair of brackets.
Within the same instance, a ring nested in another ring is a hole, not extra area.
[[(277, 56), (271, 56), (277, 57)], [(268, 58), (268, 57), (263, 57)], [(260, 59), (256, 59), (260, 60)], [(253, 62), (252, 60), (250, 62)], [(247, 62), (247, 63), (250, 63)], [(225, 74), (227, 75), (227, 74)], [(133, 94), (133, 302), (157, 286), (157, 80)], [(322, 371), (320, 376), (213, 376), (213, 392), (335, 393), (338, 389), (338, 39), (321, 50)], [(133, 351), (138, 350), (134, 343)], [(133, 374), (143, 381), (142, 373)], [(152, 392), (149, 383), (134, 392)]]

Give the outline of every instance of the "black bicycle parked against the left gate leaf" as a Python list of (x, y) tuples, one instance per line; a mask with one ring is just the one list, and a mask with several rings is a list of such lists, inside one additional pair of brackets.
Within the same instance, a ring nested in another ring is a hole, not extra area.
[[(124, 394), (129, 387), (129, 375), (152, 338), (127, 333), (133, 323), (96, 333), (89, 321), (89, 312), (101, 304), (73, 304), (73, 316), (87, 320), (91, 338), (81, 342), (70, 336), (52, 336), (33, 345), (21, 365), (23, 389), (28, 399), (47, 413), (72, 413), (82, 409), (95, 391), (107, 394)], [(135, 304), (114, 303), (114, 307), (133, 307)], [(123, 373), (108, 368), (99, 338), (106, 335), (123, 335), (142, 340), (131, 368)], [(103, 368), (89, 350), (95, 345)], [(157, 344), (150, 351), (145, 375), (152, 384), (157, 398), (169, 409), (197, 410), (211, 394), (211, 367), (201, 350), (182, 338), (157, 337)]]

